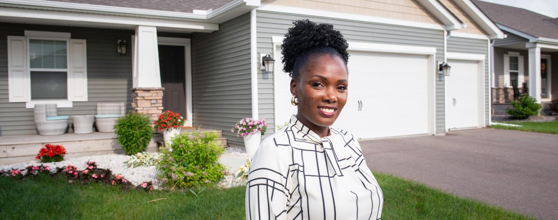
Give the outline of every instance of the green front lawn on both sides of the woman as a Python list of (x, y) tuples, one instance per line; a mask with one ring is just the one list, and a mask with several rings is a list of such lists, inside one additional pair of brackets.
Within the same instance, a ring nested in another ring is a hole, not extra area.
[[(528, 219), (387, 174), (375, 174), (384, 193), (382, 219)], [(244, 187), (180, 191), (123, 191), (65, 177), (0, 178), (2, 219), (244, 219)], [(158, 201), (155, 199), (166, 198)], [(153, 201), (153, 202), (148, 202)]]

